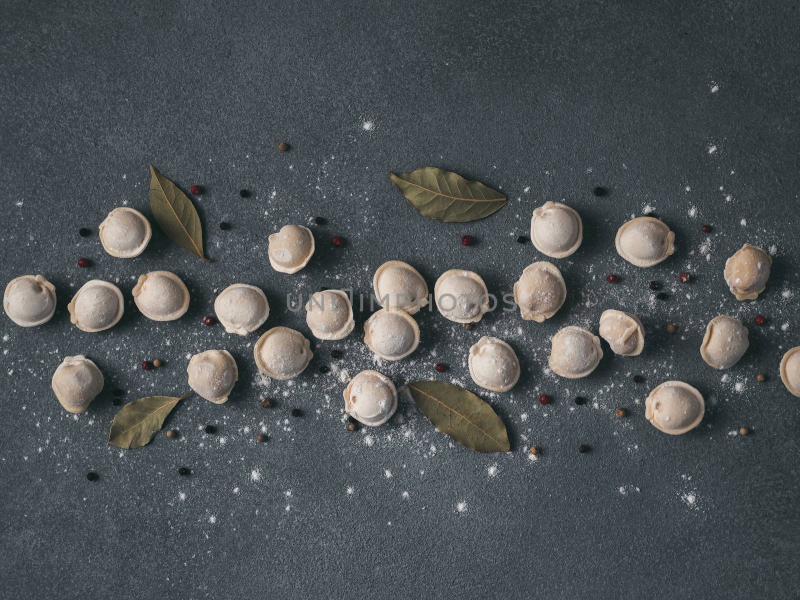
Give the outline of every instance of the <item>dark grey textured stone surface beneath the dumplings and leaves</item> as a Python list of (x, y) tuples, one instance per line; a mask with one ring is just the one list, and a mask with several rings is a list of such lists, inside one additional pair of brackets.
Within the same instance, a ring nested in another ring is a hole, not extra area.
[[(797, 6), (229, 0), (4, 2), (2, 13), (2, 281), (42, 273), (58, 288), (45, 326), (0, 319), (4, 598), (797, 597), (800, 405), (778, 380), (783, 352), (800, 344)], [(281, 140), (290, 152), (275, 150)], [(128, 261), (104, 254), (96, 234), (78, 237), (115, 206), (150, 214), (149, 162), (184, 188), (206, 187), (196, 204), (214, 262), (157, 227)], [(422, 218), (387, 174), (425, 165), (510, 201), (465, 225)], [(610, 194), (594, 198), (596, 185)], [(515, 239), (546, 200), (574, 206), (586, 232), (558, 261), (569, 295), (554, 318), (498, 312), (467, 332), (426, 312), (419, 349), (376, 367), (398, 386), (442, 378), (479, 391), (466, 352), (482, 334), (505, 338), (522, 379), (482, 395), (506, 421), (509, 454), (453, 446), (407, 402), (386, 426), (348, 432), (343, 371), (374, 365), (361, 341), (367, 314), (343, 342), (315, 342), (291, 383), (258, 375), (258, 334), (202, 326), (218, 290), (248, 282), (270, 299), (261, 331), (307, 332), (287, 293), (368, 293), (393, 258), (431, 289), (462, 267), (509, 291), (544, 258)], [(677, 250), (640, 270), (614, 252), (614, 233), (651, 209)], [(314, 226), (313, 261), (275, 273), (266, 236), (315, 215), (327, 225)], [(222, 220), (233, 229), (219, 230)], [(466, 233), (470, 248), (458, 242)], [(334, 234), (346, 247), (330, 246)], [(722, 281), (744, 242), (774, 246), (757, 302), (737, 302)], [(75, 266), (81, 256), (90, 269)], [(177, 322), (151, 322), (130, 302), (134, 278), (156, 269), (190, 287)], [(683, 270), (690, 285), (677, 282)], [(606, 284), (611, 272), (620, 285)], [(118, 282), (129, 301), (100, 334), (66, 314), (90, 278)], [(653, 300), (651, 279), (668, 301)], [(604, 345), (589, 378), (546, 372), (550, 335), (567, 324), (596, 331), (606, 308), (641, 316), (644, 354), (615, 357)], [(750, 350), (725, 373), (698, 354), (720, 313), (750, 328)], [(757, 313), (766, 326), (752, 325)], [(664, 333), (669, 322), (678, 334)], [(106, 443), (118, 410), (110, 390), (125, 390), (126, 402), (181, 394), (187, 357), (209, 348), (237, 359), (229, 402), (179, 405), (168, 423), (180, 441)], [(50, 376), (78, 353), (98, 362), (106, 390), (73, 418)], [(155, 357), (167, 366), (139, 369)], [(440, 361), (446, 374), (433, 370)], [(755, 382), (759, 371), (767, 382)], [(631, 382), (636, 373), (646, 382)], [(643, 416), (648, 390), (671, 378), (697, 386), (710, 407), (678, 438)], [(553, 404), (535, 401), (542, 392)], [(590, 402), (574, 406), (576, 394)], [(262, 395), (277, 406), (263, 410)], [(303, 418), (290, 418), (295, 406)], [(629, 416), (617, 418), (617, 406)], [(202, 433), (206, 423), (218, 434)], [(731, 434), (742, 425), (754, 434)], [(258, 445), (262, 428), (270, 442)], [(543, 449), (538, 461), (531, 443)], [(592, 451), (579, 455), (579, 443)], [(179, 466), (194, 474), (180, 477)]]

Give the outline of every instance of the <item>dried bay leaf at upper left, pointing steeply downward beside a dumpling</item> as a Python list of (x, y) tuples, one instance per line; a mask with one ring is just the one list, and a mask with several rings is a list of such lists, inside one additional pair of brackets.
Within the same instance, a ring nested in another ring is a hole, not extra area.
[(202, 251), (202, 225), (197, 209), (181, 189), (150, 165), (150, 209), (173, 242), (210, 262)]

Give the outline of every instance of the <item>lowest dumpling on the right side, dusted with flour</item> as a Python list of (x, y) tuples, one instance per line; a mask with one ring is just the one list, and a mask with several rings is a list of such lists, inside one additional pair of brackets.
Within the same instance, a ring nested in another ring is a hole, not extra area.
[(645, 418), (665, 434), (680, 435), (702, 421), (706, 402), (688, 383), (663, 382), (645, 400)]

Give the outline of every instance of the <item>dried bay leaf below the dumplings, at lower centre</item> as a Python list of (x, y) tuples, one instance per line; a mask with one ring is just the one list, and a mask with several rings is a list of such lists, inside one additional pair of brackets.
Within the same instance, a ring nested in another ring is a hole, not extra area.
[(478, 452), (508, 452), (506, 426), (492, 407), (448, 382), (410, 382), (411, 397), (434, 427)]

